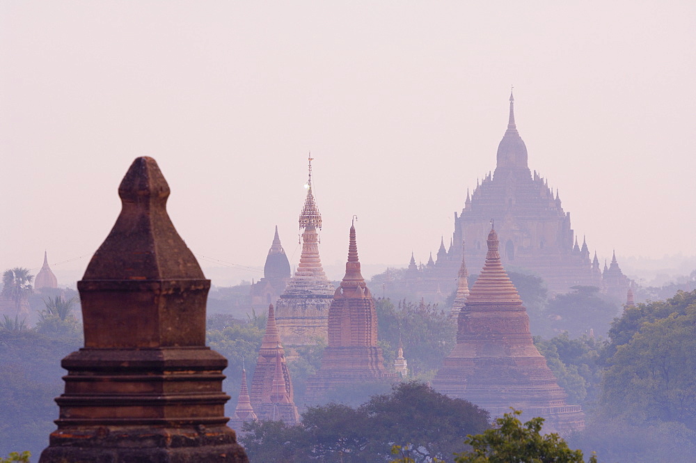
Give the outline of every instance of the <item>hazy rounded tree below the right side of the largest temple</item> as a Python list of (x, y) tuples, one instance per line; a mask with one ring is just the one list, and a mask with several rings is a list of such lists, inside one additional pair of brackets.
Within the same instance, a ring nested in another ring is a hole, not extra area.
[(621, 308), (600, 295), (599, 288), (594, 286), (574, 286), (572, 289), (573, 292), (555, 295), (548, 301), (551, 327), (556, 332), (567, 331), (573, 337), (589, 334), (590, 329), (596, 336), (606, 336)]

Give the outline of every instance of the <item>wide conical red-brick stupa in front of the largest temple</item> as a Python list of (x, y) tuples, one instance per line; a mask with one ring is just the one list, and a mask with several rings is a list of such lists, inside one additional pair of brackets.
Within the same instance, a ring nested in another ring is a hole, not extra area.
[(525, 418), (541, 416), (547, 432), (581, 430), (583, 411), (566, 403), (566, 393), (532, 343), (527, 311), (500, 263), (496, 230), (487, 241), (486, 263), (459, 313), (457, 345), (437, 372), (434, 389), (493, 416), (509, 407), (523, 410)]

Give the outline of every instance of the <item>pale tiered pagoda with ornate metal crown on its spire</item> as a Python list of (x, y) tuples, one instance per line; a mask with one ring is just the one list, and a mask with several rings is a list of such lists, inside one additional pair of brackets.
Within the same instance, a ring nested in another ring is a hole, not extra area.
[(288, 347), (316, 344), (327, 338), (329, 306), (335, 288), (326, 278), (319, 258), (322, 214), (312, 191), (312, 158), (309, 158), (307, 197), (299, 218), (302, 233), (300, 263), (277, 304), (278, 331)]

